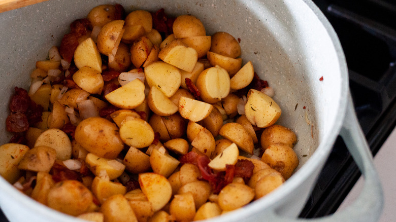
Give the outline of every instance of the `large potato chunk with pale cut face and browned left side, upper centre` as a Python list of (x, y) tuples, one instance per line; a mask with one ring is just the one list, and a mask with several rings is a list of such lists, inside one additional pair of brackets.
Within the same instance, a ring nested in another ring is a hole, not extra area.
[(182, 70), (191, 72), (198, 61), (198, 54), (195, 49), (187, 47), (180, 40), (175, 40), (159, 51), (158, 58)]

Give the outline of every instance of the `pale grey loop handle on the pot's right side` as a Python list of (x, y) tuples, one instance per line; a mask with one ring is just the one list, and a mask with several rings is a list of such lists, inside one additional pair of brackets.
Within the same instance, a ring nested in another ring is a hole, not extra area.
[(340, 131), (341, 137), (351, 153), (353, 160), (365, 178), (364, 188), (358, 198), (342, 211), (321, 218), (286, 218), (272, 211), (268, 221), (377, 221), (383, 207), (382, 186), (374, 168), (373, 157), (355, 115), (352, 98), (348, 96), (347, 112)]

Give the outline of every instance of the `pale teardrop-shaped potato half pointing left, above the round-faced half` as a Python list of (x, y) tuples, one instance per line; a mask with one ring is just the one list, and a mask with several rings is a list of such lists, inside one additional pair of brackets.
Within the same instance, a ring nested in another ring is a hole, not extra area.
[(133, 109), (143, 103), (145, 99), (144, 88), (144, 83), (139, 79), (135, 79), (106, 94), (105, 98), (119, 108)]

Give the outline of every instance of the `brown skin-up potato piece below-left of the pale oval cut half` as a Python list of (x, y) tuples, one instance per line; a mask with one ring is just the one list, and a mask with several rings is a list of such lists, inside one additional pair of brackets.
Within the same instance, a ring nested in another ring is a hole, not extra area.
[(18, 168), (35, 172), (49, 172), (55, 162), (56, 151), (49, 146), (36, 146), (26, 152)]

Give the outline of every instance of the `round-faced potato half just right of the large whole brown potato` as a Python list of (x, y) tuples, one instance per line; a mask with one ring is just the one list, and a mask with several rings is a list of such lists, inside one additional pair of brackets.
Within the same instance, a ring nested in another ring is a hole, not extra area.
[(154, 140), (154, 131), (146, 121), (126, 117), (121, 123), (120, 137), (125, 144), (136, 148), (149, 146)]

